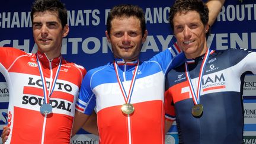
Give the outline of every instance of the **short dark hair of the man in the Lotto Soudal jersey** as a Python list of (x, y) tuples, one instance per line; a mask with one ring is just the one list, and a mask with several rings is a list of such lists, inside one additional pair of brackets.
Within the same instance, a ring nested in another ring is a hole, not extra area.
[(68, 24), (68, 14), (65, 5), (59, 0), (36, 0), (34, 1), (30, 17), (33, 22), (35, 12), (56, 11), (62, 24), (62, 28)]

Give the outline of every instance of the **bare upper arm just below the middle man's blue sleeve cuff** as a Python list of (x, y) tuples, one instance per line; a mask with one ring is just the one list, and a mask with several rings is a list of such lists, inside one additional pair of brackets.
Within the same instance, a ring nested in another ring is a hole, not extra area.
[(89, 115), (81, 113), (79, 111), (75, 111), (75, 118), (73, 122), (73, 129), (72, 129), (72, 136), (75, 136), (75, 134), (78, 132), (78, 130), (84, 126), (84, 124), (89, 119)]

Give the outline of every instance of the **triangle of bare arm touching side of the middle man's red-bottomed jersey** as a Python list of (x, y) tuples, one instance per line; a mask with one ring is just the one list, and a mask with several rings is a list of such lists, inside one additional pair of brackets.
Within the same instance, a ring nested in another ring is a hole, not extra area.
[(92, 113), (87, 122), (82, 126), (82, 129), (98, 136), (97, 114), (95, 112)]

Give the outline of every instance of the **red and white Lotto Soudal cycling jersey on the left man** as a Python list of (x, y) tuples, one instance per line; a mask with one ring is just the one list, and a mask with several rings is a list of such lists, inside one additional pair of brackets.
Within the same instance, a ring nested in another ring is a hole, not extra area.
[[(49, 61), (44, 53), (37, 53), (49, 91), (60, 57)], [(40, 113), (44, 95), (36, 54), (0, 47), (0, 57), (0, 71), (9, 89), (8, 126), (11, 133), (6, 143), (69, 143), (85, 69), (62, 59), (49, 100), (53, 113), (44, 116)]]

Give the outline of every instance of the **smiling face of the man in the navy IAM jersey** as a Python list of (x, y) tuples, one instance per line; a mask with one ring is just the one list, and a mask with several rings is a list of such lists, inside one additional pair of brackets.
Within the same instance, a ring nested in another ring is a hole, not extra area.
[(187, 58), (192, 59), (206, 52), (206, 33), (209, 25), (203, 25), (198, 12), (178, 12), (174, 15), (173, 23), (174, 36)]

